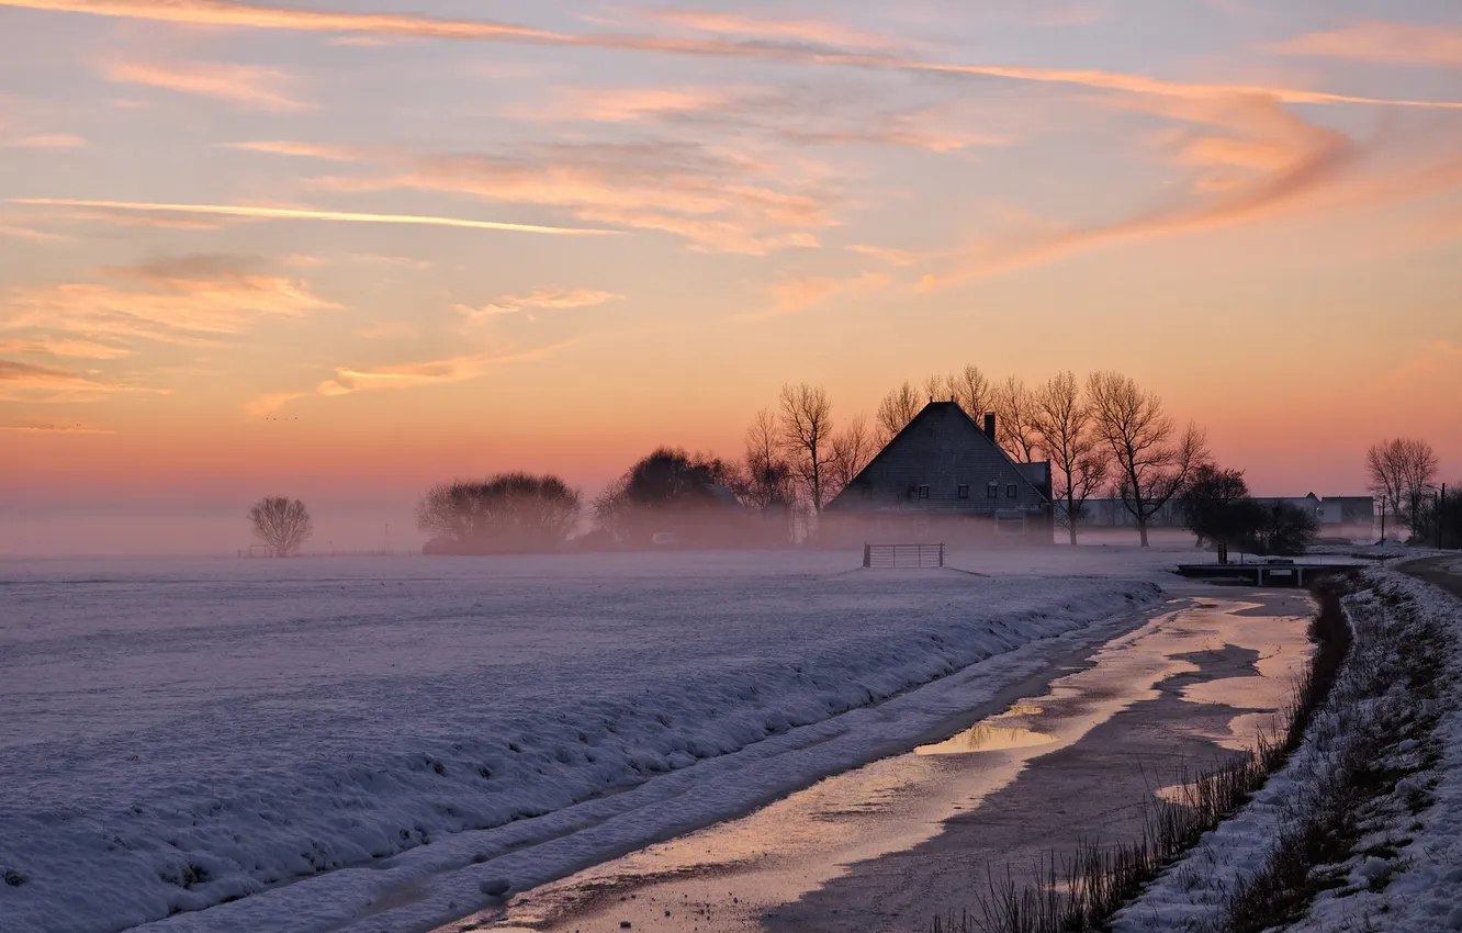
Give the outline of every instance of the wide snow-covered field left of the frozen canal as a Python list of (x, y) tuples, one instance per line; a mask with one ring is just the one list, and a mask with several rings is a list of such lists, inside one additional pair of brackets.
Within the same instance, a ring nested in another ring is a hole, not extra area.
[(1029, 673), (1174, 554), (855, 562), (0, 563), (0, 929), (335, 930), (529, 844), (572, 870), (912, 740), (867, 708)]

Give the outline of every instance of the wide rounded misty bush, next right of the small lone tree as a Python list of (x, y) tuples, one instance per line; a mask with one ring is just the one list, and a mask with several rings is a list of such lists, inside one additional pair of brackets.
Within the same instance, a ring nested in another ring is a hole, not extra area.
[(553, 550), (579, 518), (579, 493), (558, 477), (503, 472), (433, 486), (417, 505), (431, 547), (458, 554)]

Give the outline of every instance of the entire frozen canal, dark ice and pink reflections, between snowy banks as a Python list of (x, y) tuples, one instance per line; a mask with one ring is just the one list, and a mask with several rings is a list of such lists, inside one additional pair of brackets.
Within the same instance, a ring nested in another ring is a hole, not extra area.
[[(1140, 826), (1184, 766), (1251, 746), (1308, 657), (1301, 594), (1187, 586), (942, 741), (520, 894), (447, 930), (924, 930), (1082, 839)], [(1051, 677), (1054, 676), (1054, 680)], [(1050, 683), (1042, 683), (1050, 681)]]

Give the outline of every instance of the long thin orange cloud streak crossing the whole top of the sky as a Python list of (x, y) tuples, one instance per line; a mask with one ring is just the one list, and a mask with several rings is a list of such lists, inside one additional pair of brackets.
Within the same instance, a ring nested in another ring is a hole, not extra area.
[(1180, 97), (1189, 99), (1259, 95), (1269, 97), (1285, 104), (1368, 104), (1462, 108), (1462, 102), (1459, 101), (1385, 99), (1263, 85), (1189, 83), (1162, 80), (1146, 75), (1102, 72), (1096, 69), (1050, 69), (1031, 66), (925, 61), (906, 56), (889, 54), (886, 51), (860, 51), (857, 48), (846, 47), (823, 47), (822, 44), (775, 44), (765, 41), (765, 38), (734, 41), (724, 38), (702, 39), (658, 35), (626, 35), (616, 32), (569, 34), (515, 26), (510, 23), (484, 19), (453, 20), (434, 19), (428, 16), (298, 10), (246, 3), (228, 3), (225, 0), (189, 0), (187, 3), (177, 3), (175, 0), (0, 0), (0, 6), (66, 10), (76, 13), (94, 13), (99, 16), (152, 19), (161, 22), (251, 26), (260, 29), (417, 35), (427, 38), (529, 42), (537, 45), (605, 48), (677, 56), (803, 61), (808, 64), (874, 70), (1004, 78), (1022, 82), (1058, 83), (1101, 91)]

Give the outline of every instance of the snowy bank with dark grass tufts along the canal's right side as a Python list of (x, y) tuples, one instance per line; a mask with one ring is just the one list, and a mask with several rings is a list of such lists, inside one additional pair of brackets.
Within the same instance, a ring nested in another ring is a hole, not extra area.
[(1462, 603), (1395, 570), (1361, 586), (1301, 749), (1117, 933), (1462, 930)]

